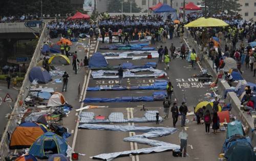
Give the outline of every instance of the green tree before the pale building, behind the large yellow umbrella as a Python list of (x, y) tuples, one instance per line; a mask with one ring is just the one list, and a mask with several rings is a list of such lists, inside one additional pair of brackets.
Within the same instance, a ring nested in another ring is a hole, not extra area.
[(239, 0), (204, 0), (206, 6), (209, 8), (210, 14), (216, 14), (223, 12), (224, 10), (228, 11), (228, 14), (234, 14), (235, 12), (241, 11)]

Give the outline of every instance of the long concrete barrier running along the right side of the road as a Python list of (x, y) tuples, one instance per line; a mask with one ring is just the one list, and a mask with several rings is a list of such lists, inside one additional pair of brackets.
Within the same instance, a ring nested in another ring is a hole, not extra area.
[[(195, 42), (194, 38), (191, 36), (189, 31), (185, 29), (185, 35), (187, 36), (187, 41), (191, 48), (194, 48), (196, 52), (198, 53), (198, 56), (201, 59), (202, 65), (208, 70), (209, 74), (214, 76), (214, 79), (217, 78), (217, 73), (212, 67), (212, 61), (207, 58), (205, 54), (201, 52), (201, 49), (199, 49), (197, 43)], [(224, 97), (224, 91), (226, 89), (230, 89), (229, 84), (225, 82), (218, 82), (218, 94), (222, 95)], [(231, 103), (232, 106), (232, 114), (237, 116), (237, 118), (243, 123), (243, 125), (246, 127), (246, 134), (251, 137), (252, 146), (256, 146), (256, 138), (254, 135), (256, 135), (256, 131), (251, 132), (254, 129), (253, 119), (251, 116), (247, 114), (244, 110), (241, 110), (241, 101), (237, 97), (236, 93), (234, 92), (228, 92), (227, 97), (225, 99), (226, 103)]]

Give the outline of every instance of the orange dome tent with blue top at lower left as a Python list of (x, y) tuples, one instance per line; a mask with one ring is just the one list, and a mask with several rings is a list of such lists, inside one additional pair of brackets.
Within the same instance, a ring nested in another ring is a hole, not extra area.
[(10, 141), (10, 149), (29, 148), (47, 130), (35, 122), (25, 122), (15, 128)]

